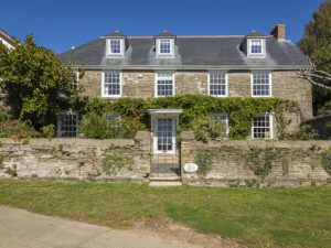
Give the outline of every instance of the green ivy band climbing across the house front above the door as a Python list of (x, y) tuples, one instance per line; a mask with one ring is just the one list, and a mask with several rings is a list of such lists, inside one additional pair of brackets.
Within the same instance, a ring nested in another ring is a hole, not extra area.
[[(204, 95), (183, 95), (162, 98), (120, 98), (118, 100), (90, 99), (85, 112), (118, 112), (130, 120), (139, 121), (145, 128), (150, 128), (148, 109), (180, 108), (183, 112), (180, 118), (181, 130), (192, 130), (196, 120), (212, 112), (227, 112), (229, 116), (229, 138), (246, 139), (250, 133), (252, 119), (263, 112), (274, 112), (277, 130), (280, 138), (285, 132), (288, 119), (286, 112), (300, 114), (296, 101), (279, 98), (216, 98)], [(83, 112), (84, 112), (83, 111)]]

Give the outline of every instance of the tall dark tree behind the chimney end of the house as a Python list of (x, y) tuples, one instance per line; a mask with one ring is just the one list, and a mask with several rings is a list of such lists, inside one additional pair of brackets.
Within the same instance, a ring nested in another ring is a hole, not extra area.
[(303, 76), (308, 76), (307, 79), (312, 83), (313, 108), (318, 112), (319, 108), (331, 100), (331, 1), (321, 3), (313, 13), (298, 46), (314, 65), (312, 69), (303, 72)]

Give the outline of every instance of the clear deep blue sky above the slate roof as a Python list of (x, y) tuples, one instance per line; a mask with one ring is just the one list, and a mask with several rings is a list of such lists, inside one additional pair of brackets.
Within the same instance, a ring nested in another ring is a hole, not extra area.
[(114, 30), (127, 35), (269, 33), (286, 23), (298, 42), (323, 0), (12, 0), (1, 1), (0, 29), (19, 40), (33, 34), (56, 53)]

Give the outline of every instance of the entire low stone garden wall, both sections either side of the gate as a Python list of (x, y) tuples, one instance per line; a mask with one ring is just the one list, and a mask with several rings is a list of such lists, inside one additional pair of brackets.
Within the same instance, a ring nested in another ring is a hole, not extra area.
[[(148, 181), (151, 134), (135, 139), (0, 139), (0, 177)], [(183, 184), (307, 186), (331, 183), (322, 154), (331, 141), (210, 141), (182, 132)], [(194, 168), (197, 171), (194, 172)], [(190, 172), (191, 171), (191, 172)]]

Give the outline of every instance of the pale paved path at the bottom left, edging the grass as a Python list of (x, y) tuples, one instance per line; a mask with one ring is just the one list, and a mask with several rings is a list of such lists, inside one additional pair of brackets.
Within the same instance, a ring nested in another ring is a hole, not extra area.
[(0, 248), (201, 248), (0, 205)]

